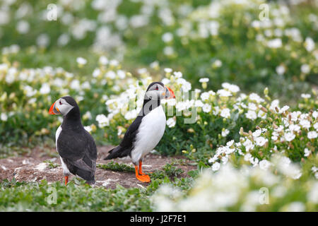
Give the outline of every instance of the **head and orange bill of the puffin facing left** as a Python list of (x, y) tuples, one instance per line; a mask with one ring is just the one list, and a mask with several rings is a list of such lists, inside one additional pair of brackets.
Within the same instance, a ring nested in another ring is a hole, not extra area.
[(61, 97), (49, 108), (49, 114), (61, 114), (66, 116), (73, 108), (78, 109), (78, 105), (73, 97)]

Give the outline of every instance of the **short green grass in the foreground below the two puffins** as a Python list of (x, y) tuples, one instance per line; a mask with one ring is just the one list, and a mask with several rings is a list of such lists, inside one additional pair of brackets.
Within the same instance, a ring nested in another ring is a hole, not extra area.
[[(52, 165), (56, 167), (56, 165)], [(102, 169), (131, 172), (132, 167), (110, 162), (98, 165)], [(0, 182), (0, 211), (151, 211), (151, 200), (161, 184), (174, 184), (184, 191), (190, 189), (192, 179), (173, 177), (181, 172), (171, 165), (151, 174), (151, 183), (145, 189), (116, 189), (89, 186), (82, 179), (73, 178), (64, 186), (61, 182), (52, 184), (16, 182), (4, 179)], [(173, 179), (173, 180), (170, 180)]]

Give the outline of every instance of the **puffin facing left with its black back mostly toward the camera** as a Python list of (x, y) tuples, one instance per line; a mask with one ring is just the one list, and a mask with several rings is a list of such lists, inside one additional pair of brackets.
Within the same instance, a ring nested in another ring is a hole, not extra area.
[(95, 184), (97, 148), (93, 137), (81, 123), (81, 112), (73, 97), (65, 96), (55, 101), (49, 114), (61, 114), (63, 122), (55, 134), (57, 152), (61, 159), (65, 185), (74, 174)]

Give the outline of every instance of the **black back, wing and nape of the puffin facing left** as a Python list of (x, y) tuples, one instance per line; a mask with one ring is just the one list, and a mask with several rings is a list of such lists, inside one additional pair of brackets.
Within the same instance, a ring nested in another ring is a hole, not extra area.
[(78, 105), (72, 97), (63, 97), (73, 109), (64, 116), (61, 133), (57, 139), (57, 150), (72, 174), (95, 182), (97, 148), (93, 137), (81, 124)]

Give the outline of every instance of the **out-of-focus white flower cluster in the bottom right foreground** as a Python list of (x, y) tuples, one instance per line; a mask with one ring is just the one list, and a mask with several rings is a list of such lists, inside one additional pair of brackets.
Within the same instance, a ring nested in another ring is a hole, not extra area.
[[(274, 158), (275, 163), (262, 160), (259, 167), (236, 169), (228, 164), (216, 173), (213, 169), (205, 170), (187, 196), (173, 186), (164, 185), (151, 201), (157, 211), (257, 211), (259, 208), (264, 211), (273, 206), (277, 208), (281, 198), (293, 196), (290, 191), (297, 183), (284, 175), (298, 177), (299, 170), (286, 157), (277, 155)], [(278, 172), (275, 172), (276, 168)], [(290, 198), (289, 203), (280, 204), (280, 210), (305, 211), (306, 206), (317, 205), (317, 184), (310, 180), (307, 185), (298, 187), (299, 191), (307, 192), (307, 197), (297, 201)]]

